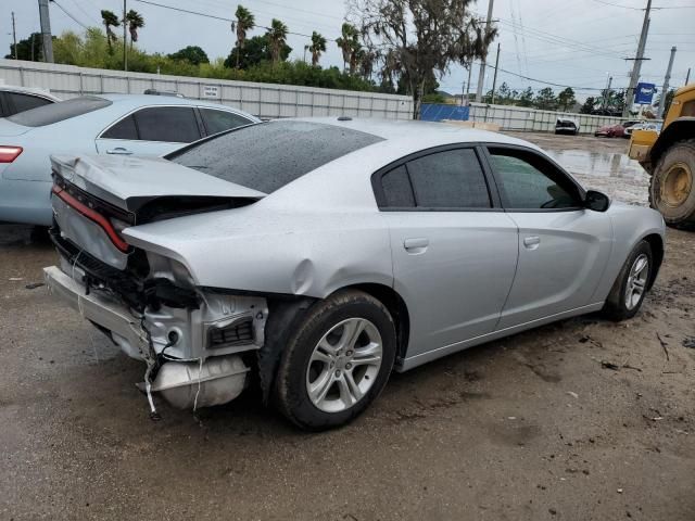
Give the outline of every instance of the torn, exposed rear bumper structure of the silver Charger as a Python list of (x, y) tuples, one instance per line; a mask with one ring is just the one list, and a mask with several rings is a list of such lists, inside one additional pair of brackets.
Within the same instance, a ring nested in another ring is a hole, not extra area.
[[(128, 356), (146, 361), (141, 389), (148, 397), (156, 392), (176, 407), (195, 409), (230, 402), (245, 387), (249, 367), (241, 353), (263, 345), (264, 298), (203, 293), (199, 308), (160, 306), (138, 314), (117, 296), (88, 289), (79, 267), (50, 266), (43, 274), (50, 293)], [(151, 397), (150, 406), (154, 412)]]

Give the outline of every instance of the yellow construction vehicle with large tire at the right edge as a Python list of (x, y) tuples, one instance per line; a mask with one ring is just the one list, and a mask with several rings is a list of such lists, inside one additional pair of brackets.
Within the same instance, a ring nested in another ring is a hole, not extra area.
[(695, 84), (675, 91), (660, 134), (632, 132), (629, 155), (652, 176), (649, 204), (666, 224), (695, 229)]

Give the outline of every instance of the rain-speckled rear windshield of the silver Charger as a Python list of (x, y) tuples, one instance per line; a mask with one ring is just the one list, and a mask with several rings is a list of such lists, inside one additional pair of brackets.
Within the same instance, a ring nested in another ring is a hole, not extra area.
[(241, 127), (166, 158), (242, 187), (271, 193), (338, 157), (382, 141), (371, 134), (314, 122)]

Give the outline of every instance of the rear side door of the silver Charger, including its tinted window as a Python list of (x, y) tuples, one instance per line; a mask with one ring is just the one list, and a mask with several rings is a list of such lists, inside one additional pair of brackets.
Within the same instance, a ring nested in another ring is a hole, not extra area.
[(475, 147), (422, 152), (375, 174), (394, 289), (410, 320), (407, 357), (493, 331), (511, 287), (517, 228)]

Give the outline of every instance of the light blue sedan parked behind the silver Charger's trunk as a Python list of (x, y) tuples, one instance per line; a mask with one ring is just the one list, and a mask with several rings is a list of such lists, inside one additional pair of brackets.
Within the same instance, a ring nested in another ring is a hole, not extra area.
[(157, 156), (258, 122), (218, 103), (147, 94), (86, 96), (0, 119), (0, 221), (51, 225), (50, 154)]

